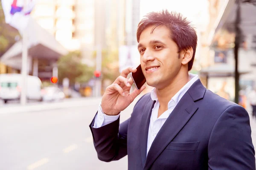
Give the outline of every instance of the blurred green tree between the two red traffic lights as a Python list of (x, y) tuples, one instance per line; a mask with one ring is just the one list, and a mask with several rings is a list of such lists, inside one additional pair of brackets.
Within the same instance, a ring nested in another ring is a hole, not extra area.
[(75, 82), (87, 82), (93, 77), (93, 68), (81, 63), (79, 51), (70, 52), (58, 60), (59, 82), (65, 77), (70, 80), (70, 85), (74, 85)]

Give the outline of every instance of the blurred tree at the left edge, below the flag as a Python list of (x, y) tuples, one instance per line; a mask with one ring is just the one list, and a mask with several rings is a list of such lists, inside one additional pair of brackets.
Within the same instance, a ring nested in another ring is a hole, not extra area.
[(15, 43), (15, 36), (20, 36), (17, 29), (5, 22), (2, 3), (0, 3), (0, 57)]

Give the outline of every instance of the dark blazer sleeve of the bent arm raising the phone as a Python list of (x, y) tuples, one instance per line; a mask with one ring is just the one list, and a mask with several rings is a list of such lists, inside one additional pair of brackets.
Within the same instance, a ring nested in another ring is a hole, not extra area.
[(90, 124), (93, 143), (101, 161), (115, 161), (127, 155), (127, 129), (130, 118), (122, 122), (119, 127), (120, 117), (105, 126), (93, 128), (94, 120)]

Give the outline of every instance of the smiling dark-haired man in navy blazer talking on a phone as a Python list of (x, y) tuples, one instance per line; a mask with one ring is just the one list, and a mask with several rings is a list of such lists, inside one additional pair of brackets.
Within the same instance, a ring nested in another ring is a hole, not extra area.
[(151, 12), (137, 29), (140, 64), (154, 87), (119, 116), (144, 89), (130, 93), (135, 68), (122, 71), (106, 88), (90, 124), (98, 158), (128, 155), (129, 170), (255, 170), (247, 111), (208, 91), (189, 74), (197, 35), (181, 14)]

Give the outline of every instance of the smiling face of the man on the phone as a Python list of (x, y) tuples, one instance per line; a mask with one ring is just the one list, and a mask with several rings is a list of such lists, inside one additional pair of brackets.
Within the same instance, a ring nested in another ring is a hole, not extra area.
[(166, 26), (148, 26), (140, 35), (138, 50), (140, 64), (147, 84), (155, 88), (165, 88), (180, 71), (182, 57), (177, 53), (177, 44), (170, 38), (171, 31)]

